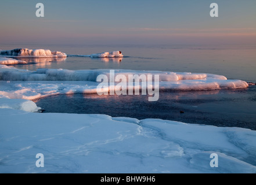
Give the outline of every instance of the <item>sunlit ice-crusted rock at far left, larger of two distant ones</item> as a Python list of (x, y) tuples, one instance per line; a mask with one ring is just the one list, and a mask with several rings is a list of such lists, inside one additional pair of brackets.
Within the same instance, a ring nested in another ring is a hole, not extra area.
[(24, 57), (67, 57), (66, 53), (62, 53), (60, 51), (51, 51), (44, 49), (14, 49), (14, 50), (1, 50), (0, 56), (8, 56), (15, 58), (24, 58)]

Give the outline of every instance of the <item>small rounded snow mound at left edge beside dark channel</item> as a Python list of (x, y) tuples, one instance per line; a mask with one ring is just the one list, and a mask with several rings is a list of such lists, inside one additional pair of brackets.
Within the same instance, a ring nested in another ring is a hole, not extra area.
[(38, 108), (33, 101), (26, 99), (0, 98), (0, 109), (16, 109), (27, 112), (38, 112), (38, 110), (41, 108)]

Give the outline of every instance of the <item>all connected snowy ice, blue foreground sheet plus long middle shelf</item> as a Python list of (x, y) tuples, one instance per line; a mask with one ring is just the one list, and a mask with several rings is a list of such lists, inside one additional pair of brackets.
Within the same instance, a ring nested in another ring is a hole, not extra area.
[[(205, 73), (116, 70), (160, 75), (163, 90), (246, 88)], [(20, 70), (0, 65), (0, 173), (256, 173), (256, 131), (99, 114), (35, 113), (26, 99), (95, 93), (109, 70)], [(138, 87), (140, 88), (140, 87)], [(11, 98), (11, 99), (10, 99)], [(44, 154), (38, 168), (36, 155)], [(212, 168), (212, 153), (218, 168)]]

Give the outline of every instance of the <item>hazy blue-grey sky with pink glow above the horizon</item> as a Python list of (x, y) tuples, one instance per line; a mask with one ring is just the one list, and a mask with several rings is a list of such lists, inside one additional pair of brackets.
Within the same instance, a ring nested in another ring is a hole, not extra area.
[(1, 0), (0, 27), (0, 43), (255, 45), (256, 1)]

